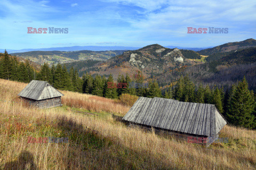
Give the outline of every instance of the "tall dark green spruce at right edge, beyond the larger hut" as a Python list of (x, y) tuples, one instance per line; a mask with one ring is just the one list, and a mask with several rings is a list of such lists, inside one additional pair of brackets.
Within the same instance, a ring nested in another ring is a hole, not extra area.
[(254, 94), (248, 89), (248, 83), (244, 77), (243, 81), (238, 83), (235, 93), (230, 100), (229, 112), (227, 114), (230, 123), (249, 129), (255, 128), (254, 107)]

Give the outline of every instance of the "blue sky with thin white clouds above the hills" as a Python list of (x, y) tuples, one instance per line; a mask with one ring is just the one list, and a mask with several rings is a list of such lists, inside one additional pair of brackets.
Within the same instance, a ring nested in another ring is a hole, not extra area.
[[(206, 47), (256, 39), (256, 1), (1, 0), (0, 49), (67, 46)], [(28, 34), (27, 27), (68, 28)], [(228, 28), (188, 34), (187, 27)]]

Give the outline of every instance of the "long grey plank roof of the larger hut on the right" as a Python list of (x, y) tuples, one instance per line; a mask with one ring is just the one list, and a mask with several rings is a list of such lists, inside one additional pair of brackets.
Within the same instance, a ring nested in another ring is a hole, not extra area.
[(227, 124), (214, 105), (158, 97), (139, 97), (123, 120), (208, 137), (215, 137)]

